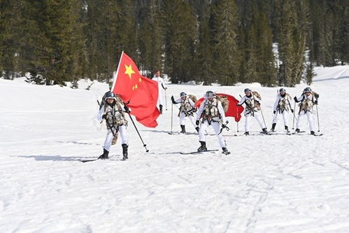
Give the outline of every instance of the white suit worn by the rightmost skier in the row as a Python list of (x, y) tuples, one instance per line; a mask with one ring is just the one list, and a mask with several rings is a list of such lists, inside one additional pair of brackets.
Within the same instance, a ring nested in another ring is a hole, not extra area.
[(302, 94), (301, 97), (297, 98), (297, 101), (301, 101), (297, 129), (301, 127), (301, 119), (306, 115), (306, 118), (308, 118), (309, 129), (314, 131), (313, 106), (315, 104), (315, 97), (313, 97), (313, 94), (309, 94), (308, 97), (306, 94)]

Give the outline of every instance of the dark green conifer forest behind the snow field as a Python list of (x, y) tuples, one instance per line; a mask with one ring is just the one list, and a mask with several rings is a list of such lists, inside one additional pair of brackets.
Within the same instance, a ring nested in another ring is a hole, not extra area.
[(172, 83), (292, 87), (349, 62), (348, 0), (0, 0), (0, 71), (108, 82), (126, 52)]

